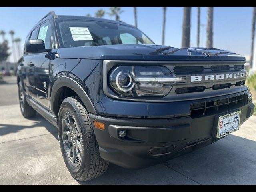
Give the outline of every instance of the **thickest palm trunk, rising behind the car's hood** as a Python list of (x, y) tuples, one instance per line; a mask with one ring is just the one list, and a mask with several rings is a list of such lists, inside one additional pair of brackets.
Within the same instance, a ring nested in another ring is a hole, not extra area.
[(184, 7), (182, 25), (182, 47), (189, 47), (190, 44), (190, 15), (191, 7)]

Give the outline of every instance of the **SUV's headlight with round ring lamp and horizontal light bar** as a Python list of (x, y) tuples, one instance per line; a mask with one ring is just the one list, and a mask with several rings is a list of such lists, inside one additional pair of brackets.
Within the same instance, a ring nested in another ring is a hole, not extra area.
[(166, 96), (176, 82), (186, 82), (186, 77), (176, 77), (163, 66), (117, 66), (108, 74), (110, 88), (120, 96)]

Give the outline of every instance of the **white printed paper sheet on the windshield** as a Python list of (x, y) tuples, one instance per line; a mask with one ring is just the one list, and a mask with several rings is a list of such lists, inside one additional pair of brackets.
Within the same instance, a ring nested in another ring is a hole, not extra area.
[(74, 41), (93, 41), (92, 35), (87, 27), (69, 27)]

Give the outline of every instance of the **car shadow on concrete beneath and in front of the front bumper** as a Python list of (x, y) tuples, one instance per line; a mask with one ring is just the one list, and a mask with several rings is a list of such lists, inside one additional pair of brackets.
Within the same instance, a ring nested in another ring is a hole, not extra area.
[(256, 142), (228, 135), (194, 152), (141, 170), (110, 164), (92, 184), (256, 184)]

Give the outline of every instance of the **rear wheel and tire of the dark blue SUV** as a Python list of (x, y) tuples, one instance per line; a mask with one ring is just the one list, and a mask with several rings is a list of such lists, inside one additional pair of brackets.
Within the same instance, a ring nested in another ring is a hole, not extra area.
[(19, 101), (20, 101), (20, 111), (25, 118), (34, 117), (36, 115), (36, 111), (28, 104), (26, 101), (26, 94), (24, 92), (24, 88), (22, 86), (22, 82), (18, 83), (19, 89)]

